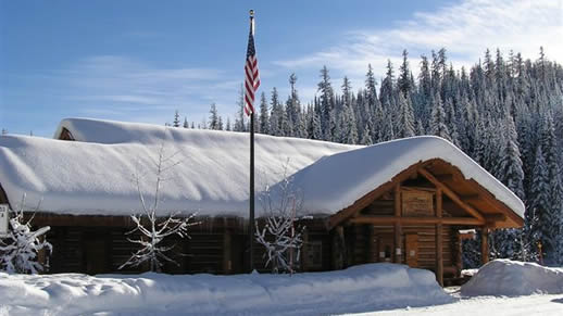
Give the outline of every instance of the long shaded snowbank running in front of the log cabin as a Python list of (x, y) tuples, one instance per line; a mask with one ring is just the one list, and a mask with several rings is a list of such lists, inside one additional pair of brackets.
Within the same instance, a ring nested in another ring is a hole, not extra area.
[(9, 315), (320, 315), (453, 301), (430, 271), (392, 264), (292, 277), (0, 274)]

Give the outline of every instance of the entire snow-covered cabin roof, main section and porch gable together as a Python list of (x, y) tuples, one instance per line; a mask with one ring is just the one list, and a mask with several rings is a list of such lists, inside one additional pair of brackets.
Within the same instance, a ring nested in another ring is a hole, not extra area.
[[(25, 136), (0, 138), (0, 185), (12, 204), (59, 214), (128, 215), (140, 190), (152, 197), (148, 173), (161, 147), (179, 162), (163, 185), (162, 212), (246, 217), (249, 197), (248, 134), (72, 118), (61, 122), (77, 141)], [(334, 214), (421, 161), (441, 159), (475, 179), (521, 217), (524, 205), (500, 181), (452, 143), (415, 137), (371, 147), (255, 137), (257, 191), (292, 175), (309, 214)], [(287, 168), (286, 168), (287, 165)], [(257, 194), (260, 197), (260, 194)], [(260, 202), (257, 202), (260, 213)], [(15, 206), (15, 205), (12, 205)]]

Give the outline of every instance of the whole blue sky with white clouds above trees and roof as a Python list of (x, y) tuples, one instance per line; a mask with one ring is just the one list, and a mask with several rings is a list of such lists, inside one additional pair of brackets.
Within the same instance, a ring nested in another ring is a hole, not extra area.
[(0, 128), (52, 137), (65, 117), (201, 123), (211, 103), (234, 117), (255, 11), (260, 91), (285, 100), (295, 73), (302, 103), (326, 65), (363, 86), (403, 49), (445, 47), (455, 67), (487, 48), (563, 62), (563, 0), (10, 1), (0, 0)]

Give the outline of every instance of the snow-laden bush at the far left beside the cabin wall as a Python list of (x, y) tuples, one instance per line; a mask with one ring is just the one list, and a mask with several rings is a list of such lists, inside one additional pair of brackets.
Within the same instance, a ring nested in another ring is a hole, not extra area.
[(24, 218), (25, 194), (18, 210), (12, 211), (10, 230), (8, 236), (0, 239), (0, 267), (8, 273), (37, 274), (43, 270), (43, 266), (37, 262), (37, 253), (40, 250), (52, 251), (52, 245), (41, 238), (50, 227), (32, 228), (32, 218)]

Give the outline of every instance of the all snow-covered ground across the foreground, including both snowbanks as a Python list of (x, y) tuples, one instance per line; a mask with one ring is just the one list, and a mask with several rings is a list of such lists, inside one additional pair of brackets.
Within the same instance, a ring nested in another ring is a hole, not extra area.
[[(563, 269), (511, 261), (489, 263), (449, 292), (430, 271), (395, 264), (293, 276), (0, 274), (0, 315), (555, 316), (562, 285)], [(536, 294), (508, 296), (512, 288)], [(491, 289), (495, 296), (475, 295)]]

